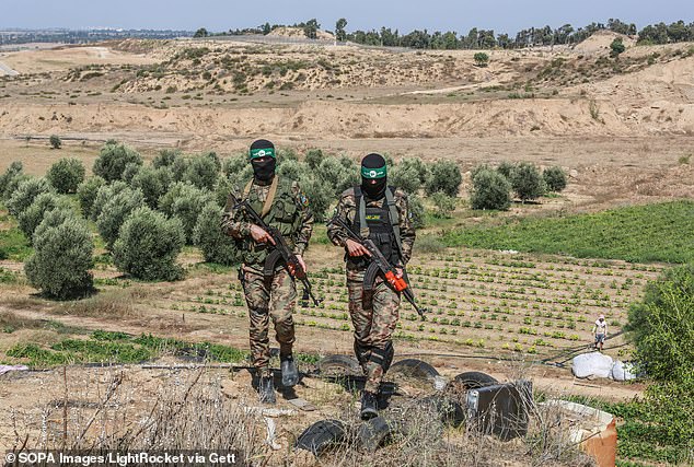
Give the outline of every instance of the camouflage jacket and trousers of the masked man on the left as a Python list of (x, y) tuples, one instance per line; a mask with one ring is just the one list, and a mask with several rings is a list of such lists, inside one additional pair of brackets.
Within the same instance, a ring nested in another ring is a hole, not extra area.
[[(277, 175), (276, 175), (277, 176)], [(253, 182), (247, 199), (257, 213), (270, 191), (270, 184)], [(242, 194), (234, 188), (236, 198)], [(263, 219), (268, 225), (277, 227), (287, 240), (296, 255), (302, 255), (313, 232), (313, 214), (309, 201), (296, 182), (278, 179), (278, 188), (269, 212)], [(222, 230), (225, 234), (241, 241), (243, 265), (239, 279), (248, 306), (250, 341), (253, 365), (261, 376), (270, 376), (269, 370), (269, 318), (275, 325), (275, 338), (280, 346), (280, 355), (291, 354), (294, 342), (294, 323), (292, 313), (297, 303), (294, 280), (280, 264), (275, 273), (265, 278), (263, 266), (271, 245), (256, 244), (251, 237), (251, 225), (243, 212), (234, 209), (231, 197), (227, 201), (222, 217)]]

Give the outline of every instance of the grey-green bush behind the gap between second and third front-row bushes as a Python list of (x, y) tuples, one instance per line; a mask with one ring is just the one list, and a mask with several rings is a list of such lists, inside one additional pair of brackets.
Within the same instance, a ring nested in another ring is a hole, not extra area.
[(212, 201), (212, 194), (189, 183), (177, 182), (159, 199), (159, 209), (171, 218), (181, 219), (186, 243), (193, 238), (193, 229), (203, 207)]

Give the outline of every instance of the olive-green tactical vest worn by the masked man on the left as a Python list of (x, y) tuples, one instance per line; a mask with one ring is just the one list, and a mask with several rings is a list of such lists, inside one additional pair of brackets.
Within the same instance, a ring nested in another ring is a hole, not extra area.
[[(291, 180), (275, 175), (274, 184), (267, 194), (266, 202), (262, 202), (257, 192), (252, 188), (253, 179), (243, 190), (243, 197), (261, 214), (265, 223), (276, 227), (287, 240), (290, 248), (293, 248), (296, 236), (301, 229), (301, 212), (291, 191)], [(262, 266), (265, 264), (271, 245), (256, 244), (248, 237), (243, 242), (243, 262), (248, 266)]]

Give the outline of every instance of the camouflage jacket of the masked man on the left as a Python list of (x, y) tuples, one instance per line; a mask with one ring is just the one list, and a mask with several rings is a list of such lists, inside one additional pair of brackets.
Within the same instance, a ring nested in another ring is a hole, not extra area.
[[(245, 185), (244, 185), (245, 186)], [(248, 201), (256, 212), (261, 213), (263, 203), (267, 199), (270, 185), (258, 185), (255, 180), (251, 186)], [(238, 199), (242, 199), (243, 189), (238, 186), (232, 191)], [(309, 200), (299, 184), (289, 179), (279, 179), (277, 194), (269, 212), (263, 220), (270, 226), (277, 227), (296, 255), (302, 255), (309, 245), (313, 233), (313, 213), (309, 208)], [(222, 215), (222, 231), (241, 241), (243, 262), (245, 266), (261, 270), (268, 254), (268, 247), (256, 244), (251, 237), (252, 222), (240, 209), (234, 209), (231, 196), (227, 200)]]

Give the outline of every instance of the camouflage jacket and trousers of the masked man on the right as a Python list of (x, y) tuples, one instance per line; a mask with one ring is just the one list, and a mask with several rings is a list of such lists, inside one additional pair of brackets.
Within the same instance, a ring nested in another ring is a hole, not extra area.
[[(404, 267), (412, 256), (415, 243), (415, 227), (412, 212), (407, 207), (407, 196), (400, 189), (394, 190), (395, 207), (398, 213), (401, 231), (402, 255), (397, 255), (395, 266)], [(366, 198), (367, 209), (382, 208), (388, 210), (385, 197), (378, 200)], [(357, 197), (355, 188), (345, 190), (337, 203), (336, 215), (339, 215), (350, 225), (355, 224), (357, 215)], [(339, 226), (331, 224), (327, 230), (331, 241), (338, 246), (346, 246), (347, 235)], [(393, 245), (393, 248), (396, 248)], [(370, 308), (362, 306), (363, 276), (369, 265), (361, 257), (350, 257), (346, 254), (347, 261), (347, 290), (349, 292), (349, 314), (355, 327), (355, 353), (365, 375), (367, 384), (365, 389), (378, 393), (383, 375), (393, 360), (392, 336), (398, 319), (400, 293), (393, 291), (383, 278), (377, 276), (373, 304)]]

